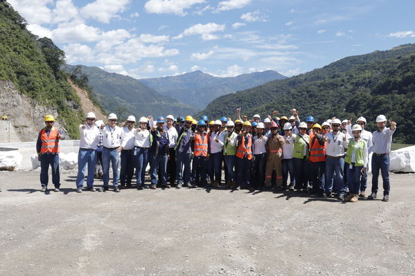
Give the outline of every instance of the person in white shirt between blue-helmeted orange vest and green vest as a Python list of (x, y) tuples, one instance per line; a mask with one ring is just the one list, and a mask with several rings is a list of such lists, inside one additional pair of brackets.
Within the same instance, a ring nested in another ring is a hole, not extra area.
[(209, 176), (213, 187), (219, 187), (222, 178), (224, 132), (220, 131), (221, 126), (222, 122), (215, 120), (214, 129), (209, 134)]

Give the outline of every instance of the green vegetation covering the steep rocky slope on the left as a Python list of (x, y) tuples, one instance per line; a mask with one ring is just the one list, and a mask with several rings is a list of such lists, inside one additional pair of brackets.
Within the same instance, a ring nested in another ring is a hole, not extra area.
[(38, 39), (26, 30), (26, 21), (0, 0), (0, 79), (11, 80), (26, 95), (58, 109), (58, 119), (69, 136), (79, 137), (82, 111), (76, 92), (60, 68), (64, 52), (51, 39)]

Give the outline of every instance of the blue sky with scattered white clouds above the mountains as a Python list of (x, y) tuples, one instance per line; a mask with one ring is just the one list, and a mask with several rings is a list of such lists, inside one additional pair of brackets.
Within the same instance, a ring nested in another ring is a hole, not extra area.
[(68, 64), (136, 78), (297, 75), (415, 42), (415, 1), (8, 0)]

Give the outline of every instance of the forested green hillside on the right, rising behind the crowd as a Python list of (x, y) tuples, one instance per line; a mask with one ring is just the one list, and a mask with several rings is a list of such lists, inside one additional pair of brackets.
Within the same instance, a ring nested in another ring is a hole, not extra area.
[(211, 118), (242, 114), (253, 116), (279, 110), (289, 116), (296, 108), (302, 120), (364, 116), (367, 129), (376, 129), (376, 116), (385, 114), (397, 122), (394, 142), (415, 143), (415, 44), (386, 51), (346, 57), (323, 68), (253, 89), (224, 95), (204, 111)]

